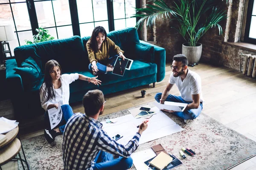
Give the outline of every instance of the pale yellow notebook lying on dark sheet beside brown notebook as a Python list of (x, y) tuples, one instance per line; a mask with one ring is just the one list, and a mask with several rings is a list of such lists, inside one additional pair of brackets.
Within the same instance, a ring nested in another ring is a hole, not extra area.
[(158, 170), (162, 170), (172, 161), (172, 157), (164, 152), (159, 153), (152, 161), (149, 163), (156, 167)]

